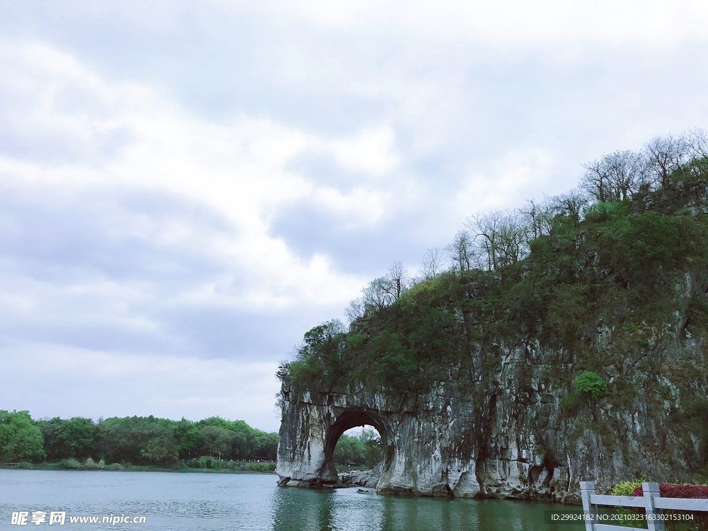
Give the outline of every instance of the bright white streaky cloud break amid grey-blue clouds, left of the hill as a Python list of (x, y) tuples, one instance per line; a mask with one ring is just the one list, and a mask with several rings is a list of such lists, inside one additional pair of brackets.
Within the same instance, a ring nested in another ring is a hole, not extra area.
[[(268, 234), (269, 211), (282, 202), (309, 194), (350, 216), (354, 224), (380, 217), (379, 193), (358, 189), (343, 195), (329, 187), (314, 188), (285, 169), (297, 154), (331, 151), (345, 166), (381, 175), (396, 164), (390, 154), (394, 142), (389, 127), (361, 132), (352, 138), (322, 139), (272, 120), (241, 117), (232, 125), (215, 125), (181, 113), (162, 95), (147, 87), (108, 84), (72, 57), (45, 46), (19, 48), (28, 67), (19, 74), (35, 83), (35, 118), (43, 127), (85, 142), (96, 131), (122, 127), (132, 142), (98, 166), (36, 164), (30, 160), (0, 157), (0, 174), (6, 178), (73, 190), (74, 194), (107, 186), (160, 191), (199, 202), (233, 223), (232, 234), (202, 234), (184, 220), (156, 223), (149, 217), (130, 217), (118, 209), (115, 228), (122, 237), (146, 239), (156, 246), (199, 246), (200, 253), (234, 263), (234, 274), (249, 278), (249, 290), (211, 290), (202, 285), (202, 297), (217, 292), (215, 302), (230, 299), (241, 307), (345, 303), (365, 282), (336, 273), (324, 256), (303, 260), (280, 239)], [(62, 85), (81, 85), (105, 103), (107, 115), (89, 116), (55, 110), (55, 96)], [(368, 205), (366, 208), (360, 208)], [(220, 282), (229, 283), (228, 278)], [(312, 286), (316, 285), (317, 289)], [(185, 297), (182, 296), (184, 299)], [(190, 298), (187, 296), (186, 298)]]

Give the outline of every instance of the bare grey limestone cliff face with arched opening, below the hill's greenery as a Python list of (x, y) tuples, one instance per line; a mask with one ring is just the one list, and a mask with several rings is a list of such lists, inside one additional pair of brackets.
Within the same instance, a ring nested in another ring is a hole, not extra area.
[[(567, 406), (567, 385), (556, 384), (572, 381), (563, 352), (527, 343), (500, 346), (499, 355), (484, 392), (451, 382), (420, 395), (355, 386), (296, 393), (284, 382), (279, 484), (345, 486), (334, 447), (363, 425), (379, 432), (384, 447), (379, 493), (577, 503), (581, 480), (597, 481), (600, 490), (640, 476), (697, 480), (690, 465), (701, 459), (699, 444), (673, 428), (678, 399), (670, 382), (623, 408), (589, 400)], [(667, 362), (704, 360), (690, 339), (664, 355)], [(632, 365), (613, 370), (631, 372)]]

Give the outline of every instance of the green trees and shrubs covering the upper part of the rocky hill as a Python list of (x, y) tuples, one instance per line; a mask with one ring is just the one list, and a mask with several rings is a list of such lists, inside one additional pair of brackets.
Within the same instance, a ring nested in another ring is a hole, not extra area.
[(668, 358), (677, 341), (705, 355), (707, 139), (659, 137), (587, 164), (579, 190), (472, 215), (418, 278), (396, 263), (352, 302), (349, 326), (308, 331), (279, 377), (296, 391), (455, 381), (484, 395), (521, 348), (566, 388), (568, 414), (588, 400), (682, 404), (675, 419), (702, 433), (708, 462), (708, 369)]

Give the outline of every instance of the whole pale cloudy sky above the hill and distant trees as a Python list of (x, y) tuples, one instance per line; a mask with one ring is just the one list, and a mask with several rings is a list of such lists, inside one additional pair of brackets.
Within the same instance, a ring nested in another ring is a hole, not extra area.
[(0, 409), (277, 430), (394, 261), (708, 128), (705, 1), (0, 0)]

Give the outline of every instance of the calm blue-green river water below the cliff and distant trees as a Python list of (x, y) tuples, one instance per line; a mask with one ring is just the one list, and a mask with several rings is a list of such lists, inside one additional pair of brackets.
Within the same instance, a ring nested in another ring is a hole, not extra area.
[[(282, 489), (275, 474), (0, 469), (0, 529), (13, 512), (66, 512), (64, 527), (140, 531), (579, 531), (544, 523), (542, 503), (401, 498), (356, 489)], [(70, 517), (144, 516), (145, 523), (70, 523)], [(546, 517), (547, 518), (547, 517)], [(33, 525), (32, 529), (39, 529)]]

